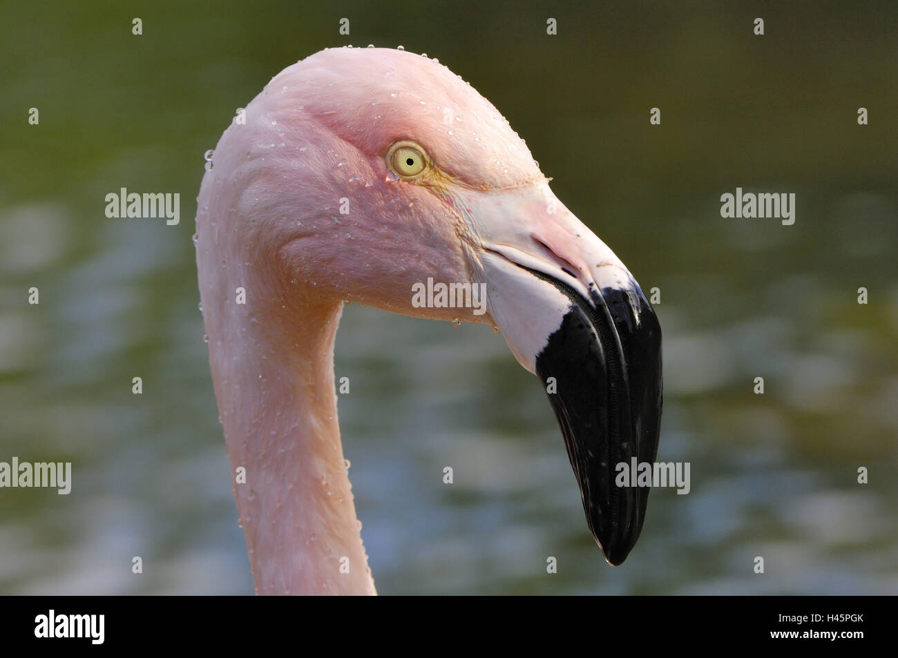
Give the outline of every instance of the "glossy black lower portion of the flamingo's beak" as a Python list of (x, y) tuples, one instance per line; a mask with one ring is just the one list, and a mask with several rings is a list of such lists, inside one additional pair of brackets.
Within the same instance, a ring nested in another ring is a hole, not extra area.
[[(616, 467), (653, 462), (661, 421), (661, 329), (635, 281), (585, 300), (533, 272), (570, 300), (559, 329), (536, 357), (574, 469), (586, 522), (605, 559), (620, 565), (645, 520), (647, 487), (618, 487)], [(635, 303), (631, 298), (635, 297)], [(629, 482), (627, 483), (629, 484)]]

